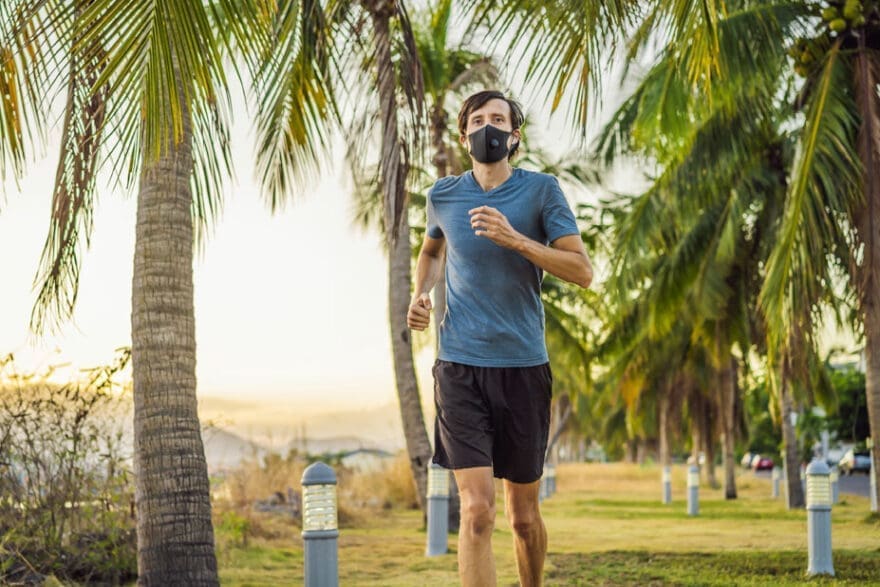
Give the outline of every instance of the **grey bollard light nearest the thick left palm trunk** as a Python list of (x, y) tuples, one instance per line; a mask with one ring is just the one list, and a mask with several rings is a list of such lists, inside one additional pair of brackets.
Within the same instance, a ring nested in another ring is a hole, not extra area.
[(313, 463), (303, 471), (302, 486), (305, 587), (338, 587), (336, 473)]

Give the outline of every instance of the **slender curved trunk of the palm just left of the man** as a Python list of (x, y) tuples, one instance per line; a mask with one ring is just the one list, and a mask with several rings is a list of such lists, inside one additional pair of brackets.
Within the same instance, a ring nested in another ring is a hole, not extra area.
[(391, 327), (391, 351), (397, 397), (403, 420), (403, 433), (410, 467), (422, 512), (427, 512), (428, 462), (431, 443), (425, 428), (422, 403), (413, 362), (410, 331), (406, 325), (411, 286), (412, 255), (406, 209), (407, 169), (401, 161), (397, 128), (397, 103), (394, 64), (391, 61), (390, 19), (393, 0), (364, 2), (373, 21), (376, 49), (379, 105), (382, 117), (382, 191), (385, 226), (388, 234), (388, 310)]

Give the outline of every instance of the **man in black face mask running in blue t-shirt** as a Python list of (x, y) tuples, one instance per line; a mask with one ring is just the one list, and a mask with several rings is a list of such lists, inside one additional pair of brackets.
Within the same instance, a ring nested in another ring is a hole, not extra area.
[(510, 165), (522, 109), (501, 92), (465, 100), (460, 141), (473, 170), (428, 192), (428, 224), (407, 321), (424, 330), (429, 293), (446, 257), (447, 308), (434, 365), (434, 462), (461, 493), (459, 576), (495, 585), (493, 476), (504, 480), (523, 586), (541, 585), (547, 531), (538, 489), (550, 427), (552, 376), (544, 341), (541, 280), (547, 271), (589, 287), (593, 279), (559, 182)]

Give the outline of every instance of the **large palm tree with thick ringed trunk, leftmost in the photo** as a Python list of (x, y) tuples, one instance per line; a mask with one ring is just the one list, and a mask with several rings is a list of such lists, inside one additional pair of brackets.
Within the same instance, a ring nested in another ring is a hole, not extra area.
[[(218, 584), (196, 410), (193, 248), (214, 219), (230, 165), (222, 52), (264, 52), (262, 15), (244, 0), (58, 1), (29, 13), (44, 26), (28, 33), (54, 59), (41, 65), (55, 77), (69, 71), (35, 331), (73, 311), (96, 170), (106, 163), (120, 184), (139, 186), (132, 365), (140, 584)], [(319, 76), (308, 75), (314, 62), (306, 66), (302, 81), (311, 83)], [(312, 113), (310, 122), (320, 118)], [(301, 133), (304, 141), (312, 134)]]

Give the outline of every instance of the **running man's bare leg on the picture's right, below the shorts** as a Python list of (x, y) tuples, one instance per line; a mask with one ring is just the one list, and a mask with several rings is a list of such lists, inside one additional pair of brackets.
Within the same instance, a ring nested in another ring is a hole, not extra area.
[(547, 555), (547, 529), (538, 503), (540, 481), (514, 483), (504, 480), (507, 519), (513, 529), (516, 566), (522, 587), (540, 587)]

